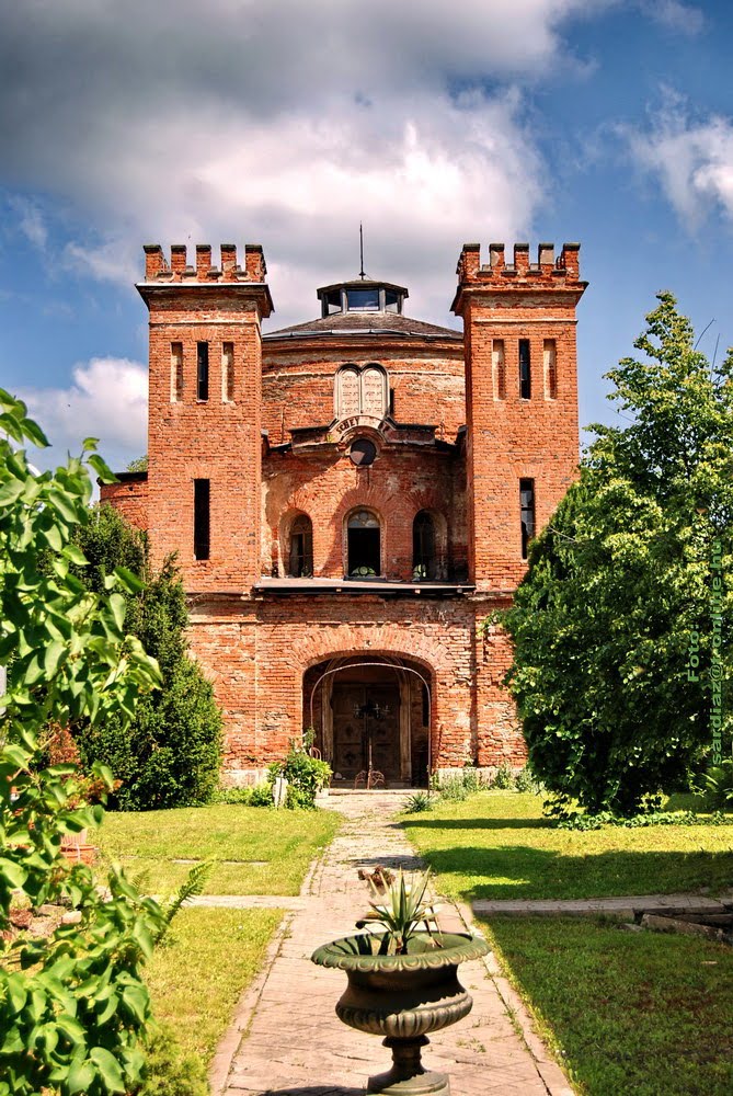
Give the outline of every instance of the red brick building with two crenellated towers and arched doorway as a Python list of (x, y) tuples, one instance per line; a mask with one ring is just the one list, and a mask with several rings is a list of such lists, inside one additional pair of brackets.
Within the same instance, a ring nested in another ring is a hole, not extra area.
[[(146, 247), (148, 472), (103, 490), (176, 551), (192, 649), (226, 715), (226, 776), (252, 779), (312, 726), (346, 784), (520, 765), (482, 627), (575, 475), (579, 247), (458, 261), (463, 333), (357, 278), (261, 330), (262, 249)], [(193, 258), (193, 256), (191, 256)], [(364, 777), (362, 776), (362, 779)]]

